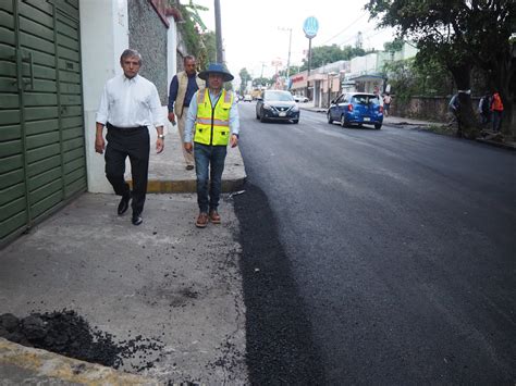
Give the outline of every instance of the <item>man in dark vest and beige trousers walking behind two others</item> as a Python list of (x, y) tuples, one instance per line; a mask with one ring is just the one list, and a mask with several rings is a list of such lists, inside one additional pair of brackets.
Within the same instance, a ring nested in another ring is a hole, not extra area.
[[(200, 88), (205, 88), (205, 82), (197, 76), (197, 64), (195, 57), (186, 55), (183, 59), (184, 71), (174, 75), (169, 90), (169, 121), (175, 126), (177, 117), (177, 132), (180, 144), (185, 159), (186, 170), (194, 169), (194, 154), (187, 152), (183, 147), (185, 122), (188, 115), (192, 96)], [(175, 111), (175, 113), (174, 113)]]

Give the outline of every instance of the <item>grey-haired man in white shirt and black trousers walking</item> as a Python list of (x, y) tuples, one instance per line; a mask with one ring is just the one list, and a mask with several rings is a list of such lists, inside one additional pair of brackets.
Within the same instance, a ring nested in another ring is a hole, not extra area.
[[(123, 74), (106, 83), (96, 116), (95, 151), (102, 154), (106, 150), (106, 177), (121, 196), (119, 215), (124, 214), (132, 200), (132, 223), (143, 222), (147, 179), (149, 170), (150, 136), (148, 126), (158, 132), (156, 151), (163, 151), (164, 116), (156, 86), (138, 75), (142, 55), (127, 49), (120, 57)], [(108, 127), (106, 145), (103, 127)], [(133, 191), (124, 179), (125, 159), (130, 158)]]

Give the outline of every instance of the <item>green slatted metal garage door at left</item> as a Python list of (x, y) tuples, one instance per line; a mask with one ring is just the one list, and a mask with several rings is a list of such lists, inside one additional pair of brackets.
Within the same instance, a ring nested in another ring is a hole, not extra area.
[(78, 0), (0, 0), (0, 245), (86, 189)]

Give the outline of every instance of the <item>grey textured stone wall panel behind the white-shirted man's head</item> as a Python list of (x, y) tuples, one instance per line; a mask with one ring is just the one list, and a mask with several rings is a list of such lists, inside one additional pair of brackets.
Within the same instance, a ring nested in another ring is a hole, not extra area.
[(156, 85), (162, 104), (168, 96), (168, 27), (149, 1), (131, 0), (128, 5), (128, 43), (142, 53), (139, 74)]

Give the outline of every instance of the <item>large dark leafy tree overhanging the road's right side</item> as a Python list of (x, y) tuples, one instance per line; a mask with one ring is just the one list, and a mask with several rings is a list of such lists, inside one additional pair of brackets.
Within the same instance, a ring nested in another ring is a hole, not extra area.
[[(369, 0), (366, 9), (381, 26), (397, 28), (398, 37), (417, 42), (419, 61), (442, 63), (458, 90), (470, 90), (471, 71), (489, 74), (505, 105), (505, 127), (512, 119), (515, 76), (509, 37), (515, 25), (514, 0)], [(477, 122), (470, 95), (459, 94), (464, 134), (474, 137)]]

